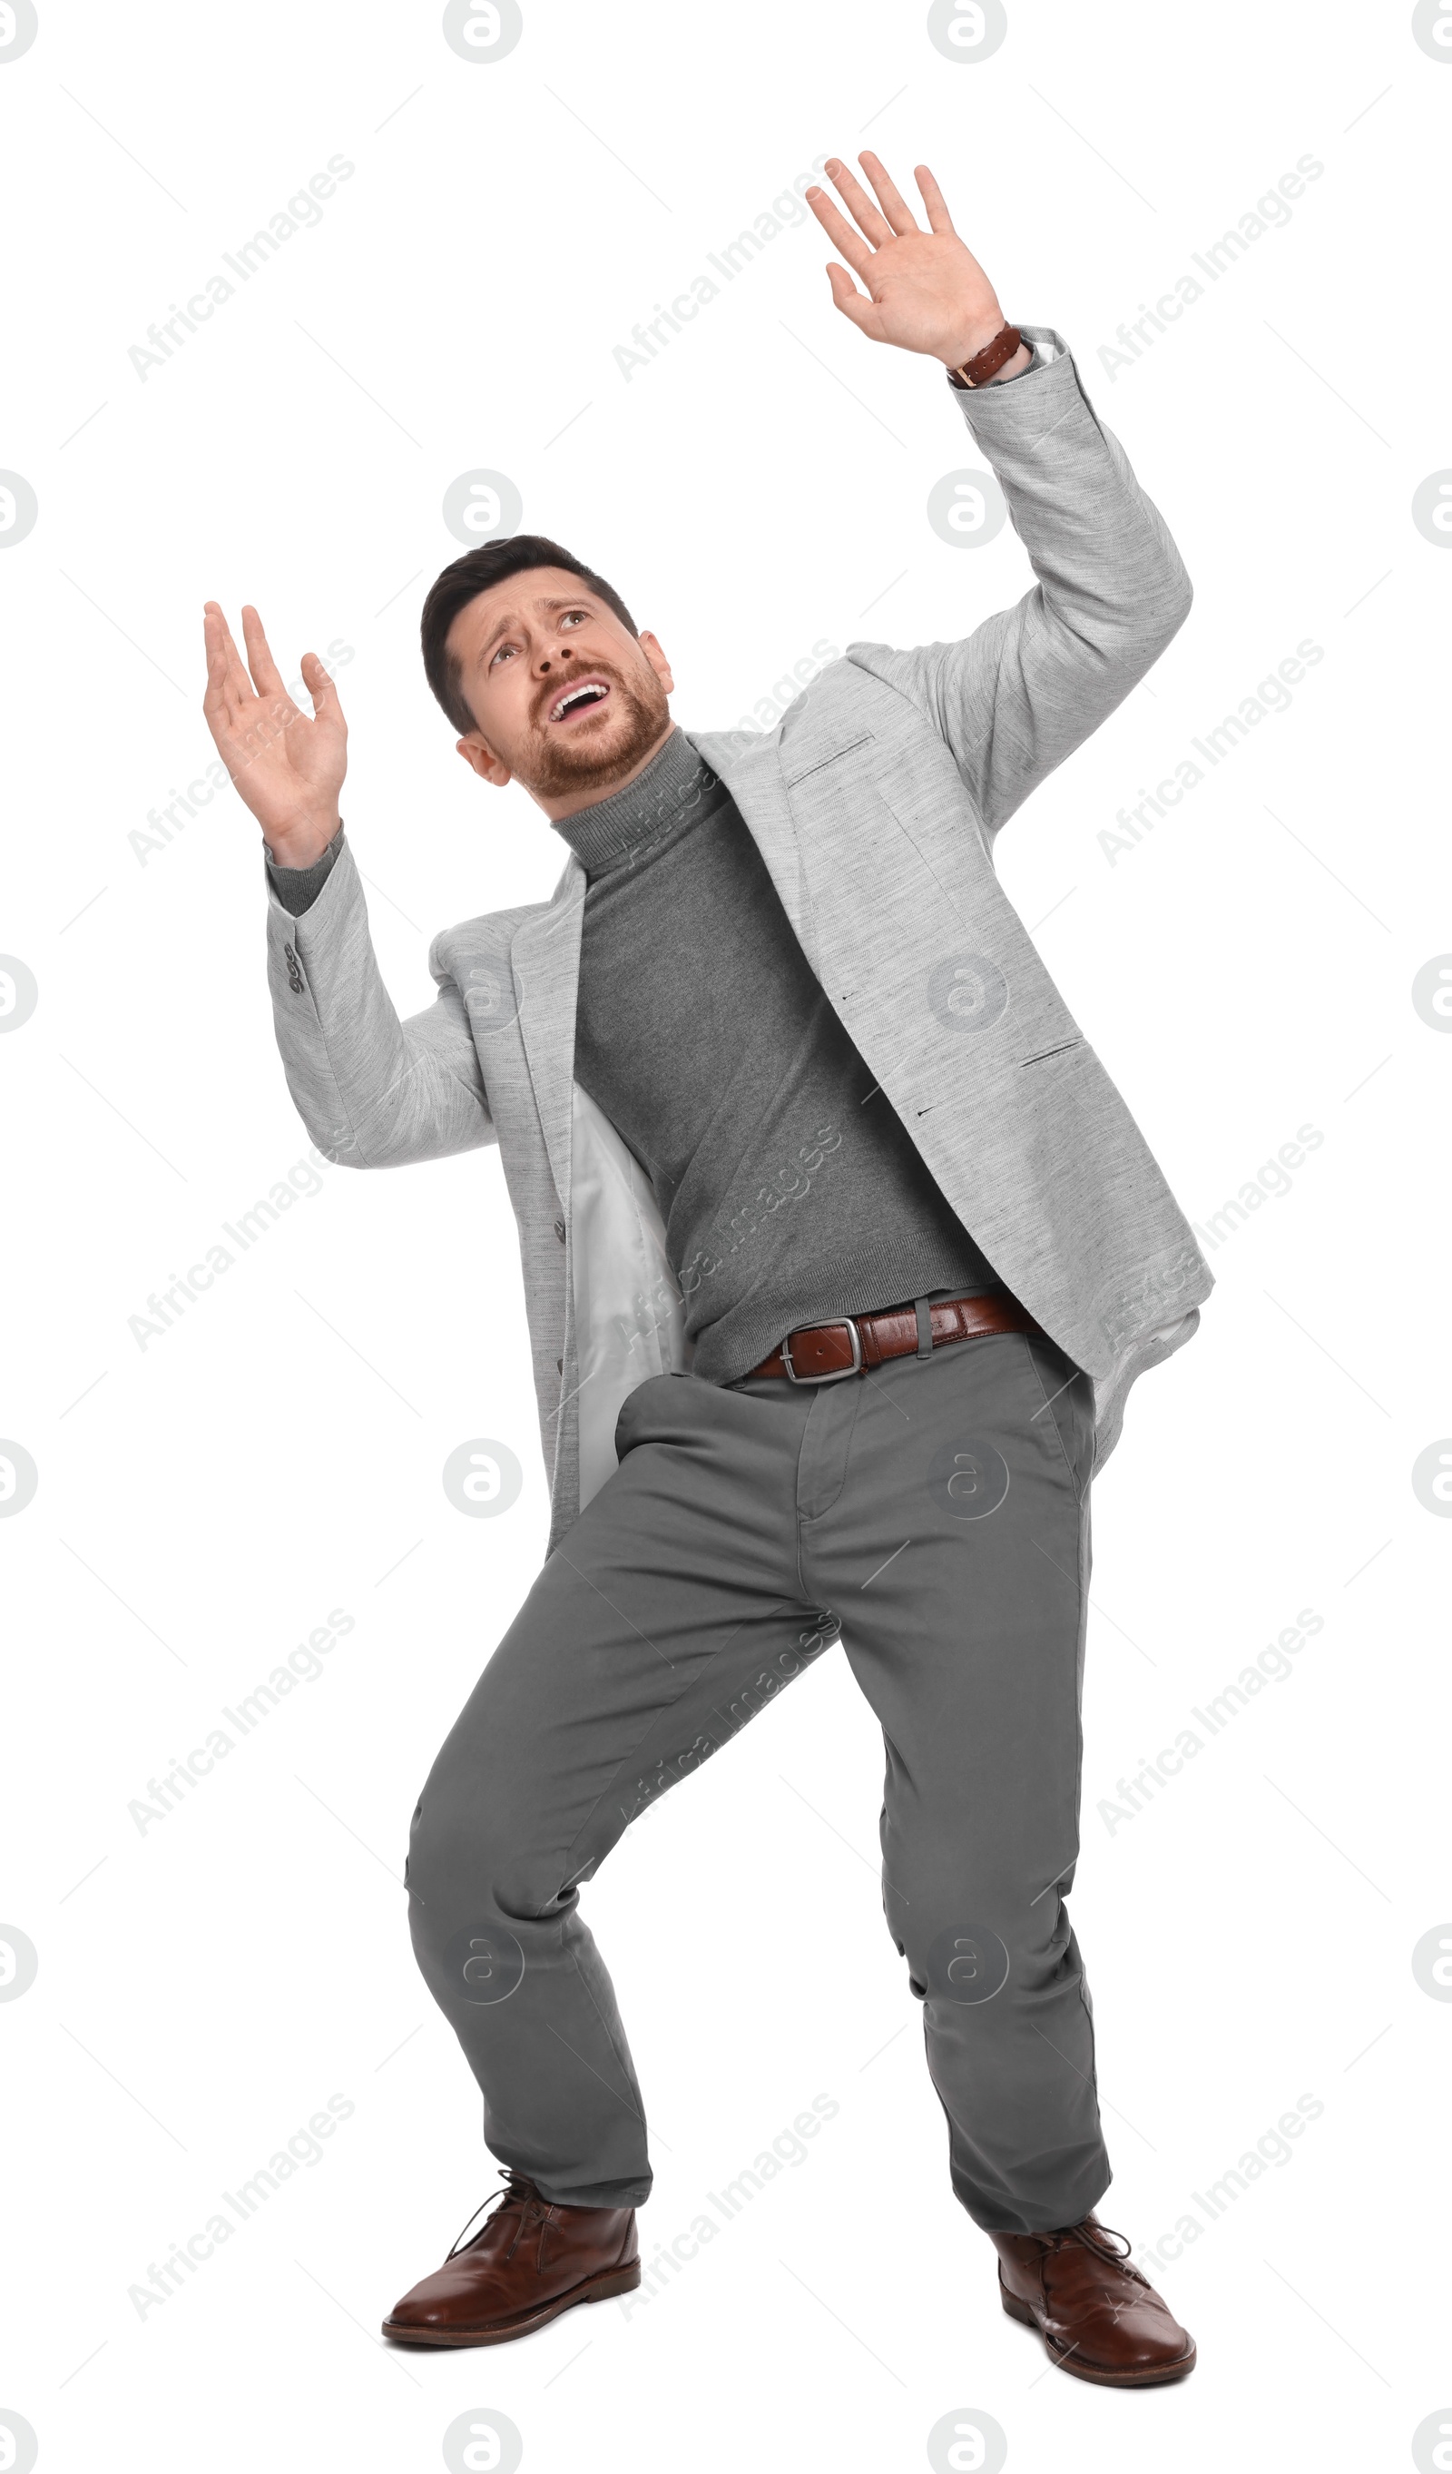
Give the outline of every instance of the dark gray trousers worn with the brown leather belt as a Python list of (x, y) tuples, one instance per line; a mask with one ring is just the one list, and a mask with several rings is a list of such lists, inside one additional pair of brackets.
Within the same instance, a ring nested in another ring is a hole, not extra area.
[(1076, 2224), (1111, 2180), (1064, 1907), (1088, 1376), (1022, 1333), (824, 1385), (656, 1376), (626, 1398), (616, 1452), (413, 1813), (413, 1947), (490, 2150), (554, 2202), (648, 2197), (641, 2091), (579, 1885), (841, 1643), (883, 1727), (883, 1912), (923, 2001), (952, 2187), (987, 2229)]

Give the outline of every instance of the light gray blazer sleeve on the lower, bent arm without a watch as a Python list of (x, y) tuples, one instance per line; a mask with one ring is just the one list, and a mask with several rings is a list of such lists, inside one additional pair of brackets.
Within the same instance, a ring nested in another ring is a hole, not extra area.
[(401, 1168), (497, 1141), (465, 1002), (435, 938), (438, 997), (406, 1022), (383, 987), (369, 905), (341, 841), (317, 901), (292, 915), (267, 886), (267, 985), (287, 1089), (341, 1168)]

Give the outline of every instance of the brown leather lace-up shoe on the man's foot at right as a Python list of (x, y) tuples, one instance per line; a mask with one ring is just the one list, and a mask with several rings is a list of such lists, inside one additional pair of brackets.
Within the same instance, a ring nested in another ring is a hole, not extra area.
[(1056, 2234), (992, 2234), (992, 2241), (1004, 2311), (1039, 2331), (1059, 2370), (1101, 2387), (1155, 2387), (1195, 2370), (1195, 2340), (1130, 2266), (1125, 2236), (1093, 2212)]

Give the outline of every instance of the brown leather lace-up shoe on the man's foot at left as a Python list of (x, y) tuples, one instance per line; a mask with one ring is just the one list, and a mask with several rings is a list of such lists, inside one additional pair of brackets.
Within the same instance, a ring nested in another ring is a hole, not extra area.
[(443, 2269), (393, 2303), (383, 2335), (398, 2345), (507, 2345), (574, 2303), (638, 2284), (633, 2207), (557, 2207), (510, 2170), (472, 2241), (455, 2241)]

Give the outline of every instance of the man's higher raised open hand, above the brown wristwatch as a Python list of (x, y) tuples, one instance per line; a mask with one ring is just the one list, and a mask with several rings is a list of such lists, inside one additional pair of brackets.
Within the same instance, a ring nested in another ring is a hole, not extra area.
[(873, 344), (898, 344), (903, 351), (925, 351), (955, 364), (1002, 327), (994, 287), (952, 230), (942, 190), (925, 163), (915, 178), (928, 210), (928, 233), (915, 223), (878, 156), (863, 153), (861, 163), (878, 205), (843, 163), (831, 173), (858, 230), (826, 190), (806, 193), (811, 213), (868, 292), (863, 299), (846, 267), (831, 265), (826, 270), (831, 297)]

